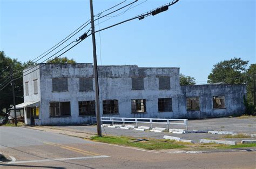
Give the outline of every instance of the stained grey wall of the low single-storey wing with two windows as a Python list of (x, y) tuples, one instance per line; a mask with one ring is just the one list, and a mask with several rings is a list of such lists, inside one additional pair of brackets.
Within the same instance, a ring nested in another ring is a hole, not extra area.
[[(186, 97), (199, 97), (200, 110), (187, 111), (186, 118), (211, 118), (241, 114), (246, 95), (246, 85), (188, 85), (181, 86), (183, 102), (181, 111), (186, 111)], [(225, 96), (225, 109), (213, 109), (213, 96)]]

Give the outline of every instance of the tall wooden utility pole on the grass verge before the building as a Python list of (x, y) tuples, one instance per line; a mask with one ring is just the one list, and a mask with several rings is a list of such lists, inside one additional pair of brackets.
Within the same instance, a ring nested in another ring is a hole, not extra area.
[(91, 31), (92, 31), (92, 46), (93, 46), (93, 70), (94, 70), (94, 77), (95, 77), (97, 132), (98, 132), (98, 136), (102, 137), (102, 128), (100, 123), (100, 112), (99, 112), (99, 83), (98, 83), (98, 67), (97, 67), (97, 56), (96, 56), (95, 26), (94, 26), (92, 0), (90, 0), (90, 9), (91, 9), (91, 28), (92, 28)]

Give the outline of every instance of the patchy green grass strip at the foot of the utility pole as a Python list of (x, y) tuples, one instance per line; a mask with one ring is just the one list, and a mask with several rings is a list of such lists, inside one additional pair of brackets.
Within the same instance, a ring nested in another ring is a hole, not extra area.
[(132, 143), (132, 141), (134, 141), (136, 139), (129, 138), (129, 137), (113, 137), (113, 136), (98, 137), (98, 136), (94, 136), (94, 137), (91, 137), (91, 139), (100, 141), (103, 143), (144, 148), (146, 150), (161, 150), (161, 149), (186, 147), (184, 145), (177, 144), (173, 140), (163, 140), (163, 139), (161, 139), (161, 140), (150, 139), (148, 141), (139, 141), (136, 143)]

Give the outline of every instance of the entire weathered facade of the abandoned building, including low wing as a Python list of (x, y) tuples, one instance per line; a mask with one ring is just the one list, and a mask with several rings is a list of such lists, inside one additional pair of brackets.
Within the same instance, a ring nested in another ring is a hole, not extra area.
[[(36, 102), (34, 106), (39, 107), (39, 117), (35, 119), (36, 125), (91, 122), (92, 116), (79, 116), (78, 102), (95, 100), (92, 64), (41, 64), (33, 70), (26, 71), (28, 70), (23, 71), (24, 102)], [(31, 71), (33, 72), (29, 73)], [(99, 66), (98, 75), (102, 117), (207, 118), (241, 114), (244, 111), (242, 96), (246, 94), (245, 85), (180, 86), (179, 68), (177, 67)], [(67, 91), (53, 91), (52, 79), (58, 78), (68, 80)], [(93, 90), (79, 90), (79, 85), (81, 85), (79, 79), (82, 78), (92, 78)], [(134, 83), (136, 78), (143, 79), (143, 89), (142, 86), (137, 86), (140, 90), (132, 89), (132, 85), (136, 85)], [(38, 79), (38, 93), (36, 94), (34, 93), (35, 86), (33, 86), (35, 79)], [(166, 79), (170, 79), (170, 83)], [(27, 95), (25, 83), (28, 83), (29, 93)], [(225, 109), (213, 109), (212, 97), (217, 95), (225, 96)], [(187, 96), (199, 97), (200, 110), (187, 111)], [(172, 111), (159, 112), (158, 98), (171, 98)], [(118, 100), (118, 113), (103, 114), (103, 100), (107, 99)], [(146, 112), (132, 113), (131, 99), (146, 99)], [(50, 102), (70, 102), (70, 116), (50, 117)], [(30, 119), (26, 119), (26, 113), (25, 123), (30, 124)]]

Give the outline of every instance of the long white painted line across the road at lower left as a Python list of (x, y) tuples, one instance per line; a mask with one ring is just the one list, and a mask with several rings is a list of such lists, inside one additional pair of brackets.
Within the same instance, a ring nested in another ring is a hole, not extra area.
[(10, 161), (9, 163), (3, 164), (3, 165), (20, 164), (20, 163), (41, 163), (46, 161), (65, 161), (65, 160), (80, 160), (80, 159), (92, 159), (92, 158), (106, 158), (106, 157), (109, 157), (109, 156), (90, 156), (90, 157), (57, 158), (57, 159), (45, 159), (45, 160)]

